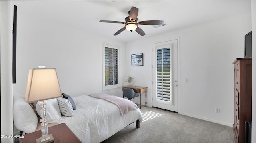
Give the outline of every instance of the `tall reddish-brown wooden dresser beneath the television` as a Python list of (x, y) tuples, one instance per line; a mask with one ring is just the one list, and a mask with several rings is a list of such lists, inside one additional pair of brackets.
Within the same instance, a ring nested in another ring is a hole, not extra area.
[(252, 122), (252, 58), (237, 58), (234, 62), (234, 139), (244, 143), (245, 121)]

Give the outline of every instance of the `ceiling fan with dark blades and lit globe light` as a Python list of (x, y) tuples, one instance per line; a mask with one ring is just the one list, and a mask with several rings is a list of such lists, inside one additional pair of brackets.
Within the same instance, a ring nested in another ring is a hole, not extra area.
[(100, 22), (125, 24), (125, 26), (123, 28), (121, 28), (120, 30), (118, 30), (114, 35), (118, 35), (122, 31), (127, 29), (129, 31), (135, 30), (141, 36), (144, 36), (145, 32), (141, 28), (138, 27), (138, 24), (139, 25), (162, 25), (162, 24), (164, 24), (163, 20), (147, 20), (147, 21), (138, 22), (138, 18), (137, 18), (138, 12), (139, 12), (139, 9), (132, 6), (131, 10), (128, 12), (129, 16), (124, 19), (125, 22), (109, 21), (109, 20), (100, 20)]

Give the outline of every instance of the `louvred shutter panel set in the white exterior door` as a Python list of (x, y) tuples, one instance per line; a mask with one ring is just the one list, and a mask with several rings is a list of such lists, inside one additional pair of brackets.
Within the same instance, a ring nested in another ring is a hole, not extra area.
[(170, 48), (157, 50), (157, 99), (172, 100), (172, 72)]

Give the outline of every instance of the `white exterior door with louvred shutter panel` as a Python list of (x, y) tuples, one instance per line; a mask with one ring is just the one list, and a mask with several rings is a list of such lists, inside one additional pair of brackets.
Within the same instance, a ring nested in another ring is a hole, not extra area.
[(153, 107), (178, 112), (178, 39), (152, 44)]

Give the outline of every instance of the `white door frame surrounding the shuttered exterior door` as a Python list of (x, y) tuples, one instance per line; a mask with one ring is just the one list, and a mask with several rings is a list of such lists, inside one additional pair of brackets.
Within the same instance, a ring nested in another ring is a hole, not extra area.
[[(177, 108), (178, 108), (178, 110), (177, 110), (177, 112), (178, 113), (180, 113), (180, 38), (179, 37), (174, 37), (174, 38), (169, 38), (169, 39), (165, 39), (165, 40), (158, 40), (158, 41), (155, 41), (155, 42), (152, 42), (151, 43), (151, 81), (152, 81), (152, 88), (151, 88), (151, 93), (152, 93), (152, 95), (151, 95), (151, 101), (152, 101), (152, 105), (153, 105), (153, 98), (154, 98), (154, 93), (153, 93), (153, 56), (155, 56), (155, 55), (153, 55), (153, 44), (157, 44), (157, 43), (162, 43), (162, 42), (167, 42), (167, 41), (172, 41), (172, 40), (177, 40), (177, 67), (178, 67), (178, 69), (177, 69), (177, 78), (178, 78), (178, 83), (177, 83)], [(152, 106), (151, 105), (151, 106)]]

